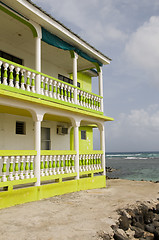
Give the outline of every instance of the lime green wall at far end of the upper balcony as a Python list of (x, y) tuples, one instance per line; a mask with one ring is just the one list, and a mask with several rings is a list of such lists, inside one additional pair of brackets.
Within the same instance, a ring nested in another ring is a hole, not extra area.
[[(73, 79), (73, 75), (70, 74), (70, 78)], [(77, 82), (80, 83), (80, 88), (92, 92), (92, 79), (90, 76), (82, 73), (82, 72), (78, 72), (77, 73)]]

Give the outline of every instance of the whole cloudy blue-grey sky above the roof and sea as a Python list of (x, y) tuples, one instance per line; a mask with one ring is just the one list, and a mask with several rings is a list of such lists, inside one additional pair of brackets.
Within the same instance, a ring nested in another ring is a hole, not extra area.
[(106, 151), (159, 151), (159, 1), (33, 0), (112, 59), (103, 67)]

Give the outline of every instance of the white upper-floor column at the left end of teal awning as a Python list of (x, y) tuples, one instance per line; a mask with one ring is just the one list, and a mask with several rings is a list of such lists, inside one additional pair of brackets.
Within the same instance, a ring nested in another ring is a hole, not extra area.
[[(41, 72), (41, 38), (35, 38), (35, 70)], [(36, 76), (36, 92), (40, 94), (40, 75)]]

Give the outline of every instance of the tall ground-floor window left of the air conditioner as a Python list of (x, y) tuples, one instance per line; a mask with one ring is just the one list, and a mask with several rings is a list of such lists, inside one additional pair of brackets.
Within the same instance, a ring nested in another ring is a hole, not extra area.
[(41, 128), (41, 149), (42, 150), (51, 149), (50, 128), (46, 127)]

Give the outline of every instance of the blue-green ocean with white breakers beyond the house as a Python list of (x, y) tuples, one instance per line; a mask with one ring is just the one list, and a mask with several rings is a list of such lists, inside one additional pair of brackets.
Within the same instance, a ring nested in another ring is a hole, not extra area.
[(159, 152), (106, 153), (110, 178), (159, 181)]

